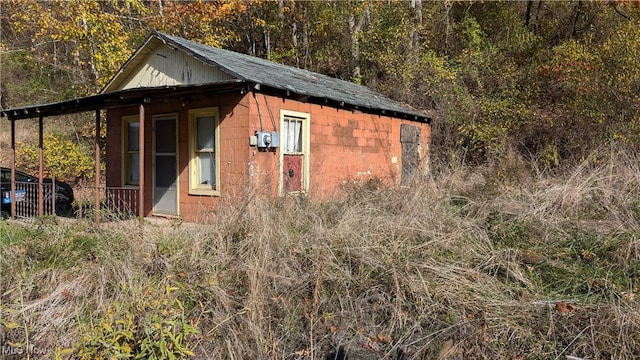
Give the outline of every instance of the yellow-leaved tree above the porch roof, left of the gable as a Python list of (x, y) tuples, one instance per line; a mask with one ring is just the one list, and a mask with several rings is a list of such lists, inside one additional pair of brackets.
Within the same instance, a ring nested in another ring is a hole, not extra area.
[(69, 74), (80, 85), (78, 95), (95, 92), (131, 53), (120, 14), (146, 11), (138, 0), (19, 0), (5, 6), (10, 33), (30, 43), (36, 61)]

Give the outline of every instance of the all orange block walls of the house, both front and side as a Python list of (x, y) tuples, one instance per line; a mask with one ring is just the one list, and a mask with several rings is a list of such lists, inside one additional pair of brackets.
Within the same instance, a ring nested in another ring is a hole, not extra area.
[[(256, 102), (257, 100), (257, 102)], [(189, 195), (188, 111), (217, 106), (220, 111), (221, 197)], [(122, 117), (138, 114), (138, 107), (110, 110), (107, 114), (107, 186), (122, 185)], [(256, 131), (279, 131), (280, 110), (310, 114), (309, 196), (325, 199), (339, 196), (350, 181), (379, 178), (388, 185), (400, 182), (402, 148), (400, 124), (420, 126), (421, 167), (426, 169), (430, 126), (388, 116), (365, 114), (257, 94), (218, 96), (191, 101), (152, 104), (145, 107), (145, 154), (152, 152), (154, 114), (178, 113), (179, 214), (187, 221), (206, 220), (221, 198), (242, 196), (247, 191), (277, 196), (280, 176), (279, 150), (259, 151), (249, 146)], [(275, 125), (275, 127), (274, 127)], [(145, 170), (145, 215), (152, 211), (152, 167)]]

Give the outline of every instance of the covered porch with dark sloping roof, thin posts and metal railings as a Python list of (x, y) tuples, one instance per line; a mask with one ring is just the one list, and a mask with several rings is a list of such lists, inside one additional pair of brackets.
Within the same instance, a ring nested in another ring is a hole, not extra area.
[[(83, 186), (78, 189), (74, 216), (90, 216), (96, 224), (101, 222), (101, 216), (105, 212), (118, 216), (137, 216), (142, 223), (148, 209), (145, 209), (145, 166), (150, 162), (151, 154), (145, 154), (145, 142), (150, 139), (145, 137), (145, 121), (140, 121), (138, 142), (140, 150), (138, 153), (138, 174), (140, 176), (137, 186), (109, 186), (104, 181), (104, 174), (101, 168), (101, 148), (100, 129), (105, 125), (104, 111), (117, 108), (137, 108), (138, 117), (146, 118), (146, 108), (154, 104), (180, 102), (183, 104), (189, 101), (202, 99), (214, 95), (247, 92), (247, 84), (243, 81), (231, 80), (207, 85), (176, 85), (161, 86), (154, 88), (126, 89), (110, 93), (87, 96), (72, 100), (66, 100), (51, 104), (32, 105), (21, 108), (13, 108), (0, 111), (0, 116), (6, 118), (10, 125), (10, 149), (9, 164), (10, 169), (10, 191), (11, 191), (11, 218), (33, 218), (43, 215), (55, 215), (55, 196), (47, 198), (45, 194), (55, 192), (55, 179), (51, 183), (46, 183), (44, 179), (44, 121), (46, 118), (68, 114), (92, 112), (94, 114), (94, 144), (93, 156), (95, 158), (95, 179), (93, 184)], [(16, 122), (25, 119), (38, 120), (38, 174), (37, 181), (20, 181), (16, 169)], [(107, 141), (109, 139), (109, 129), (107, 129)], [(120, 164), (106, 164), (109, 166), (120, 166)], [(3, 182), (4, 183), (4, 182)], [(148, 186), (148, 181), (147, 181)], [(25, 194), (37, 194), (25, 199)], [(21, 198), (23, 197), (23, 198)], [(23, 200), (23, 201), (16, 201)], [(24, 201), (30, 200), (30, 201)]]

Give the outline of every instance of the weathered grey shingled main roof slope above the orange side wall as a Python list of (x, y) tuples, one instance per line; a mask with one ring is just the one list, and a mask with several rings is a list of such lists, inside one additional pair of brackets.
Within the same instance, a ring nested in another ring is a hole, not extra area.
[(151, 36), (156, 36), (166, 44), (241, 80), (288, 90), (299, 95), (344, 102), (372, 110), (398, 112), (422, 120), (428, 119), (425, 113), (391, 100), (365, 86), (157, 31)]

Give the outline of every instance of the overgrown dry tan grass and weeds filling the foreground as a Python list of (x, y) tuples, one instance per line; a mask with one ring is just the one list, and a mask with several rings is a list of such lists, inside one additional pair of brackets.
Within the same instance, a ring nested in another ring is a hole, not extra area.
[(209, 225), (144, 237), (3, 222), (0, 342), (51, 358), (635, 358), (640, 159), (607, 157), (516, 184), (460, 167), (320, 203), (229, 200)]

